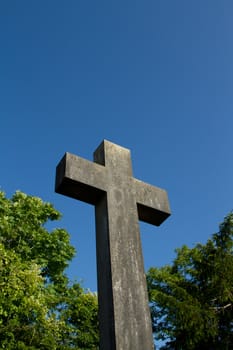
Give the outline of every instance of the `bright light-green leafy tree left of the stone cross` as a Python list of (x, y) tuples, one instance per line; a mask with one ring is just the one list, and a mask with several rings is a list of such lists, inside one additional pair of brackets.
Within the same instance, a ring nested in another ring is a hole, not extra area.
[(75, 254), (60, 213), (40, 198), (0, 192), (1, 349), (97, 349), (97, 298), (65, 269)]

